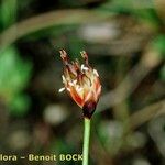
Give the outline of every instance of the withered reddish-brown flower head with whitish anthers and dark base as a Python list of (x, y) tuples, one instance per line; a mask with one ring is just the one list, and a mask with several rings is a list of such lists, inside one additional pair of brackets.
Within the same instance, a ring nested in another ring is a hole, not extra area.
[(85, 64), (79, 64), (78, 59), (69, 63), (67, 53), (61, 51), (64, 63), (64, 75), (62, 75), (64, 88), (59, 92), (67, 90), (74, 101), (82, 109), (84, 117), (90, 119), (96, 110), (101, 85), (98, 72), (89, 66), (87, 53), (80, 52)]

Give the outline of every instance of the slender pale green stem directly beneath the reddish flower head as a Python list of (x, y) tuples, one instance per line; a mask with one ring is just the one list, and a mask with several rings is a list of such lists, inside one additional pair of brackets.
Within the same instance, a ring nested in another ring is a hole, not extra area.
[(90, 119), (85, 118), (84, 128), (84, 150), (82, 150), (82, 165), (88, 165), (88, 154), (89, 154), (89, 139), (90, 139)]

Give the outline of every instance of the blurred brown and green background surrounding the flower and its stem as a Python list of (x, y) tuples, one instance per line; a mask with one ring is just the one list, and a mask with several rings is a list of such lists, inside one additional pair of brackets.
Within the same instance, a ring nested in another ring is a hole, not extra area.
[(58, 92), (59, 50), (72, 59), (85, 50), (102, 84), (90, 165), (165, 165), (164, 7), (164, 0), (0, 0), (0, 153), (81, 153), (81, 110)]

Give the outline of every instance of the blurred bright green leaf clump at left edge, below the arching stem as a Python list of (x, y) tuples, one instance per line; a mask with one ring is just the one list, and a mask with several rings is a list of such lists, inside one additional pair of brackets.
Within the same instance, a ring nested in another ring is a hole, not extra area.
[(22, 94), (30, 79), (32, 65), (23, 62), (14, 47), (0, 56), (0, 98), (11, 112), (21, 116), (26, 111), (29, 98)]

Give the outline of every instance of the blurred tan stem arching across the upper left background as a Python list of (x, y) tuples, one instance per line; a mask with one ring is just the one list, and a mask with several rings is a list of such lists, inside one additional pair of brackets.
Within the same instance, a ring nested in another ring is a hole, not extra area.
[(0, 34), (0, 50), (3, 51), (8, 46), (13, 44), (16, 40), (46, 28), (52, 28), (61, 24), (64, 25), (98, 22), (103, 21), (108, 18), (109, 15), (107, 14), (85, 9), (58, 10), (43, 13), (15, 23), (3, 31)]

